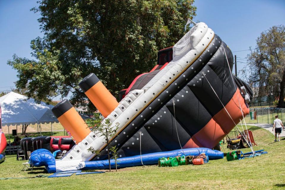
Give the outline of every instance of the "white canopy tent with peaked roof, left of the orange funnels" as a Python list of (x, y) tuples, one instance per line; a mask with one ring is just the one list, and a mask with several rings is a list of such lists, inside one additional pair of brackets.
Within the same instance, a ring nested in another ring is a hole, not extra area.
[[(51, 132), (53, 132), (52, 124), (58, 123), (57, 118), (53, 115), (51, 109), (53, 105), (47, 105), (45, 102), (35, 103), (34, 99), (28, 99), (27, 96), (10, 92), (0, 97), (0, 105), (2, 108), (2, 126), (10, 125), (38, 125), (51, 123)], [(81, 115), (83, 119), (89, 117)], [(41, 135), (41, 129), (40, 129)]]

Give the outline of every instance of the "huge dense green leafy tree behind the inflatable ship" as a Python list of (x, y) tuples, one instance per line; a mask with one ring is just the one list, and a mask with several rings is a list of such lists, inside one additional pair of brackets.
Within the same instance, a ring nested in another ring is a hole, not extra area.
[[(156, 64), (159, 49), (174, 45), (196, 15), (194, 0), (41, 0), (32, 10), (43, 38), (31, 41), (36, 60), (14, 55), (17, 88), (46, 102), (61, 94), (84, 106), (78, 83), (94, 72), (116, 97)], [(89, 105), (89, 110), (94, 110)]]

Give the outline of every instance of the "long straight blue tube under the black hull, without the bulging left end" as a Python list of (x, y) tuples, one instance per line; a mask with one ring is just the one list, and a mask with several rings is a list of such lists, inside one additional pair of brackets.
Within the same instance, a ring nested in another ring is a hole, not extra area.
[[(206, 153), (210, 160), (224, 158), (224, 153), (221, 151), (216, 151), (209, 148), (186, 148), (183, 149), (183, 151), (180, 149), (175, 151), (143, 154), (142, 161), (144, 165), (154, 165), (157, 164), (159, 158), (161, 157), (173, 157), (181, 155), (198, 156), (200, 153)], [(111, 162), (111, 168), (115, 168), (115, 160), (111, 159), (110, 162)], [(140, 155), (118, 158), (117, 164), (118, 168), (142, 166)], [(85, 162), (85, 167), (82, 170), (96, 170), (96, 169), (107, 169), (107, 168), (109, 168), (109, 161), (100, 160), (100, 161)]]

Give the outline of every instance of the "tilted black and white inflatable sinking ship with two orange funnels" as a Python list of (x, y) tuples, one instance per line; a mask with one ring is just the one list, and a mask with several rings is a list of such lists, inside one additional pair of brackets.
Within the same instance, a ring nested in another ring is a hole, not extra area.
[[(88, 99), (113, 126), (120, 158), (215, 147), (249, 113), (252, 91), (232, 76), (229, 47), (205, 23), (195, 23), (173, 47), (159, 51), (158, 65), (136, 77), (120, 102), (91, 73), (79, 84)], [(85, 161), (107, 159), (104, 137), (91, 132), (68, 100), (53, 108), (76, 145), (56, 160), (56, 171), (85, 167)], [(141, 143), (140, 143), (141, 142)], [(102, 154), (88, 151), (90, 147)], [(140, 148), (141, 147), (141, 148)]]

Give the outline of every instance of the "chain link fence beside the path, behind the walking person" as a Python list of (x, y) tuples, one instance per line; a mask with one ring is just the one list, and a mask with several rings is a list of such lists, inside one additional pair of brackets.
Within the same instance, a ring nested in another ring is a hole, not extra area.
[[(281, 119), (282, 122), (285, 122), (285, 108), (278, 108), (278, 107), (250, 108), (250, 112), (251, 114), (248, 114), (244, 118), (246, 124), (273, 124), (275, 115), (278, 115), (278, 118)], [(242, 123), (244, 122), (242, 121)]]

